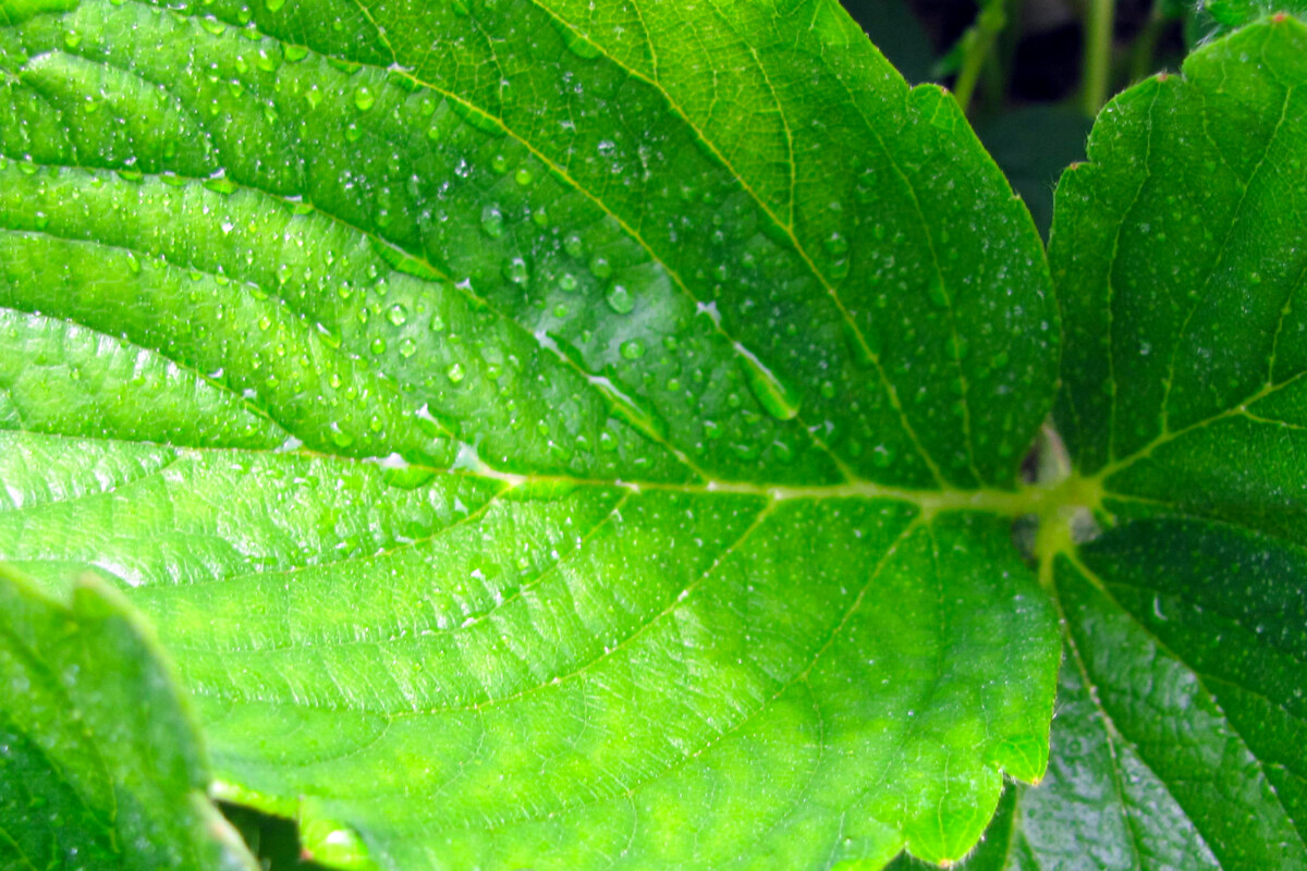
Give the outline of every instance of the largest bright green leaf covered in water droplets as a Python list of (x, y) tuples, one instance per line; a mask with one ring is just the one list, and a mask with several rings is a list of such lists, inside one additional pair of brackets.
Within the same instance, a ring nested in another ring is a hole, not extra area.
[(831, 0), (5, 0), (0, 555), (387, 867), (876, 867), (1036, 778), (1056, 312)]

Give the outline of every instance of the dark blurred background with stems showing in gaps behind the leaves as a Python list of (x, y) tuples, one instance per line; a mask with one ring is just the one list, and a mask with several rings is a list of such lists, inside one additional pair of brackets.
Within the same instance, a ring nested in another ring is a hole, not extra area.
[[(1184, 0), (842, 1), (910, 82), (953, 90), (1046, 238), (1057, 176), (1085, 159), (1103, 103), (1134, 81), (1178, 71), (1216, 29)], [(268, 871), (325, 871), (301, 855), (293, 821), (222, 810)], [(985, 864), (983, 854), (965, 864)], [(924, 866), (904, 857), (894, 867)]]

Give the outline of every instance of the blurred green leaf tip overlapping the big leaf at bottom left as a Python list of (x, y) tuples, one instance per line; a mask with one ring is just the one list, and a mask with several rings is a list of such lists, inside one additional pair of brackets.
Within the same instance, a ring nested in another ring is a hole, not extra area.
[(0, 866), (255, 868), (205, 795), (190, 712), (120, 597), (0, 569)]

